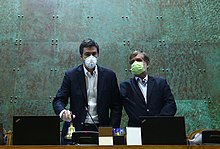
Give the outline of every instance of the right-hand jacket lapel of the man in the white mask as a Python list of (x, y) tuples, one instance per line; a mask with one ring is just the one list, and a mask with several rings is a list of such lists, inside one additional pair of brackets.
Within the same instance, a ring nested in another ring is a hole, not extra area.
[(104, 69), (98, 66), (98, 82), (97, 82), (97, 102), (101, 99), (101, 93), (104, 85)]

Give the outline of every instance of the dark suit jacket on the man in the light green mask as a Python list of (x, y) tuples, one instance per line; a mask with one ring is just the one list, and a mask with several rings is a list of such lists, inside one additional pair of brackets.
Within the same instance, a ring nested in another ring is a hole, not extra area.
[(128, 126), (140, 126), (139, 116), (173, 116), (176, 103), (167, 81), (148, 77), (147, 104), (135, 77), (120, 84), (121, 99), (129, 117)]

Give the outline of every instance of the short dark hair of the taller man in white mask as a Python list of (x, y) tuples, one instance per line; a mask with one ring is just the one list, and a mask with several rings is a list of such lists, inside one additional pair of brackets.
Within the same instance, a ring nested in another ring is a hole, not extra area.
[(97, 52), (99, 54), (99, 45), (92, 39), (88, 38), (82, 41), (82, 43), (79, 46), (79, 53), (80, 55), (83, 54), (83, 48), (89, 48), (89, 47), (96, 47)]

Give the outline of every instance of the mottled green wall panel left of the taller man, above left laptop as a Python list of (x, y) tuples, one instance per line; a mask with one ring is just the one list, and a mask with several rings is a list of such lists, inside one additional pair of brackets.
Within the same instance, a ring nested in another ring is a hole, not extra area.
[(38, 100), (53, 94), (53, 51), (50, 43), (22, 43), (17, 51), (16, 64), (19, 71), (16, 73), (15, 94), (19, 98)]

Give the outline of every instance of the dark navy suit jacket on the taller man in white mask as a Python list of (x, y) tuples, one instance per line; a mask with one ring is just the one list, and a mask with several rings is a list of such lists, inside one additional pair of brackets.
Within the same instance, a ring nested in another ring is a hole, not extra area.
[[(97, 113), (99, 126), (120, 127), (122, 105), (116, 75), (113, 71), (98, 66)], [(73, 125), (81, 130), (87, 115), (88, 107), (85, 73), (83, 65), (65, 72), (63, 83), (53, 100), (57, 115), (66, 107), (70, 99), (70, 111), (76, 115)], [(62, 136), (65, 136), (69, 123), (65, 122)]]

